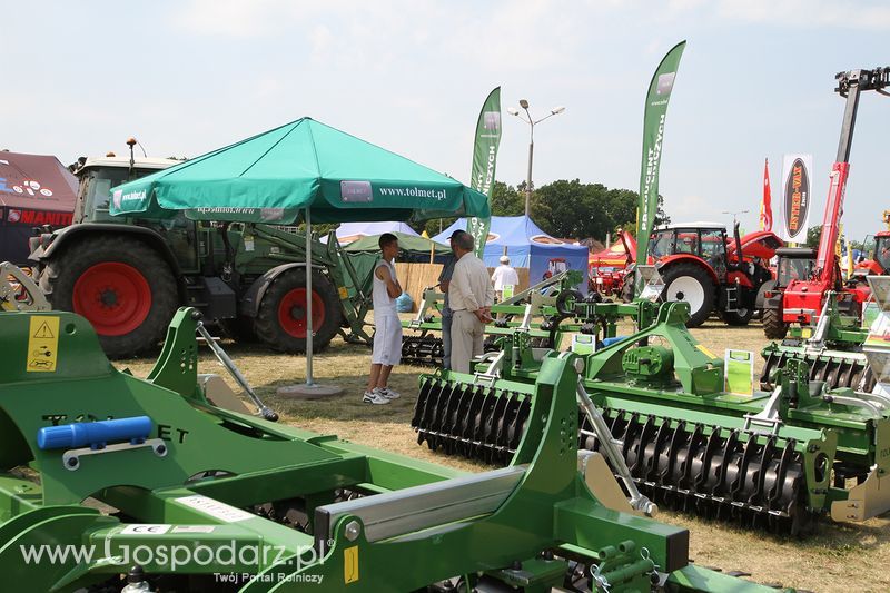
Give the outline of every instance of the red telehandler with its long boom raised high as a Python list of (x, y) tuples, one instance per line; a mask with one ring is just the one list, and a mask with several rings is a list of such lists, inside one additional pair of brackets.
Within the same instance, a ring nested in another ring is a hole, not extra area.
[[(831, 167), (828, 200), (822, 220), (822, 237), (815, 256), (815, 265), (808, 278), (791, 280), (782, 290), (781, 298), (768, 299), (765, 307), (781, 307), (781, 318), (785, 324), (811, 324), (824, 306), (825, 293), (834, 290), (840, 295), (839, 308), (849, 314), (861, 315), (862, 303), (869, 298), (866, 286), (844, 287), (834, 246), (838, 241), (838, 223), (843, 214), (843, 196), (847, 177), (850, 172), (850, 148), (859, 95), (863, 90), (876, 90), (888, 95), (883, 89), (890, 86), (890, 67), (874, 70), (850, 70), (837, 75), (835, 92), (847, 99), (841, 126), (838, 157)], [(765, 312), (764, 312), (765, 313)]]

